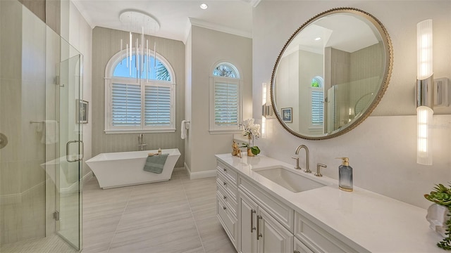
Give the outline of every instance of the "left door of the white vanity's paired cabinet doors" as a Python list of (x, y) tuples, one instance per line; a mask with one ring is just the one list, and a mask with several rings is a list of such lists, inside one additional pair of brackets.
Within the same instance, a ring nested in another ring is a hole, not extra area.
[(238, 190), (238, 252), (257, 252), (257, 204)]

